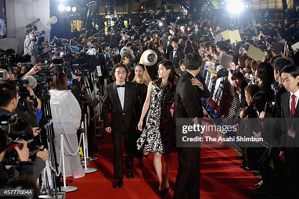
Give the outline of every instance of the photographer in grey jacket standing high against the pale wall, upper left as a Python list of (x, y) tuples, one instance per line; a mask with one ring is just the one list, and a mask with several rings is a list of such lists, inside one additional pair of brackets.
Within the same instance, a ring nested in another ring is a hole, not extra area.
[(27, 24), (25, 26), (26, 39), (24, 41), (24, 55), (31, 55), (31, 64), (35, 65), (35, 60), (38, 57), (38, 41), (33, 34), (37, 30), (36, 25)]

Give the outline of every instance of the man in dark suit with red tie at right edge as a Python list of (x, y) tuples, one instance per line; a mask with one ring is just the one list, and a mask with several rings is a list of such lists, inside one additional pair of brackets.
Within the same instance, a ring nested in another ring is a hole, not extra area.
[(281, 95), (283, 134), (279, 156), (287, 165), (287, 191), (284, 197), (295, 199), (299, 196), (299, 67), (283, 67), (281, 79), (288, 92)]

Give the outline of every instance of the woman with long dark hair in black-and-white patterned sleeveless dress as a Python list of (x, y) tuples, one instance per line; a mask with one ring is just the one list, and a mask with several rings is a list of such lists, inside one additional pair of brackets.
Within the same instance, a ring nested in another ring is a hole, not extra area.
[[(145, 156), (149, 153), (154, 154), (153, 164), (159, 179), (159, 191), (162, 194), (169, 190), (171, 134), (173, 131), (170, 109), (174, 100), (178, 75), (169, 60), (163, 60), (158, 64), (158, 74), (159, 78), (149, 83), (147, 98), (138, 123), (139, 131), (143, 132), (137, 140), (137, 148), (143, 149)], [(143, 129), (143, 119), (147, 113), (147, 121)], [(162, 177), (162, 154), (164, 177)]]

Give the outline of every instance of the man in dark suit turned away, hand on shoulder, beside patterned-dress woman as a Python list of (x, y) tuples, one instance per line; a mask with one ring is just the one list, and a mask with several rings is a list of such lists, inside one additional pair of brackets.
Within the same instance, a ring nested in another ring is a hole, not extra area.
[[(191, 118), (197, 125), (198, 118), (204, 117), (200, 98), (209, 97), (210, 92), (202, 80), (195, 78), (199, 77), (202, 57), (198, 53), (190, 53), (184, 63), (186, 70), (179, 79), (174, 96), (173, 119), (176, 123), (177, 118)], [(178, 148), (178, 157), (173, 198), (184, 199), (188, 195), (188, 199), (199, 199), (200, 147)]]

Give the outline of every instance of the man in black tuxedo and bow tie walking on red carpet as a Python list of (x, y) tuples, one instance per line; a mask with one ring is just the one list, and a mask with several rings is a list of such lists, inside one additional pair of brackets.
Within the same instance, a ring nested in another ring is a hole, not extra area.
[[(123, 178), (123, 152), (122, 137), (124, 137), (127, 154), (127, 177), (132, 179), (134, 174), (134, 132), (141, 115), (141, 105), (138, 99), (138, 91), (135, 84), (125, 81), (128, 68), (123, 64), (116, 64), (112, 69), (116, 82), (107, 85), (104, 95), (102, 110), (105, 130), (112, 133), (113, 139), (113, 169), (117, 179), (113, 188), (121, 188)], [(111, 124), (108, 120), (108, 110), (111, 105)]]

